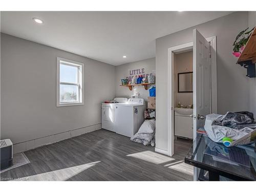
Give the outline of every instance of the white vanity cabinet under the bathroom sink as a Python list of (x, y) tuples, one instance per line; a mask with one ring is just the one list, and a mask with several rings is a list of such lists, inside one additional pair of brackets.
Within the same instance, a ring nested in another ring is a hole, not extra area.
[(193, 139), (193, 118), (175, 111), (174, 119), (175, 136)]

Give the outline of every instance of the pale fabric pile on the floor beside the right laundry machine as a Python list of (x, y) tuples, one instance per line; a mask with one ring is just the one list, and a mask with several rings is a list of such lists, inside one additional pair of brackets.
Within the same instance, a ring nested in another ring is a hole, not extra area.
[(131, 141), (143, 143), (143, 145), (155, 146), (156, 120), (145, 120), (139, 131), (131, 137)]

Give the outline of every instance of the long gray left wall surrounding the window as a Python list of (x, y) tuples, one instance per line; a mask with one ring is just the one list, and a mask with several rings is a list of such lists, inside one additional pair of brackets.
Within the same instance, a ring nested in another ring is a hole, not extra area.
[[(56, 107), (56, 58), (84, 63), (84, 105)], [(115, 97), (115, 67), (1, 34), (1, 138), (23, 142), (101, 123)]]

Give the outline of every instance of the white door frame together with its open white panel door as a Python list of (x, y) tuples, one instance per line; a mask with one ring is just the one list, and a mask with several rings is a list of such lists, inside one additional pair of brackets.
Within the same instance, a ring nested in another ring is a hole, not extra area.
[[(217, 113), (216, 36), (205, 38), (193, 30), (193, 41), (168, 49), (167, 80), (167, 154), (175, 153), (175, 54), (193, 49), (193, 149), (197, 144), (197, 129), (203, 127), (205, 115)], [(189, 125), (188, 125), (189, 126)], [(194, 168), (194, 180), (198, 171)]]

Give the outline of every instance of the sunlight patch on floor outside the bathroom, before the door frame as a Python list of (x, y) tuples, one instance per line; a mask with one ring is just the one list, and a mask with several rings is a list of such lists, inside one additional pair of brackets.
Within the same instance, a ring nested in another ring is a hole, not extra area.
[(139, 152), (139, 153), (134, 153), (134, 154), (129, 154), (126, 155), (128, 157), (135, 157), (137, 159), (141, 159), (150, 163), (155, 163), (155, 164), (161, 164), (161, 163), (166, 163), (168, 161), (173, 161), (175, 160), (172, 157), (168, 157), (165, 155), (161, 155), (156, 152), (152, 151), (144, 151), (144, 152)]

